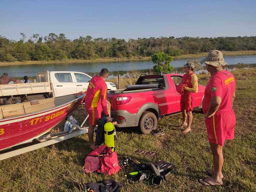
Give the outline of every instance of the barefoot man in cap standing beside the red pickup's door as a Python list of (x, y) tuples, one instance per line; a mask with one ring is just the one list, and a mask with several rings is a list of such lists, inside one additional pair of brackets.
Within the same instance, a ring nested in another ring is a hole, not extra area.
[[(181, 95), (181, 112), (182, 112), (182, 124), (180, 128), (186, 127), (186, 129), (182, 133), (188, 133), (191, 131), (191, 124), (192, 124), (192, 110), (193, 110), (193, 93), (198, 92), (198, 79), (197, 76), (194, 74), (195, 64), (193, 62), (187, 62), (184, 65), (184, 72), (186, 73), (183, 75), (181, 83), (185, 84), (184, 87), (184, 94)], [(188, 117), (188, 123), (187, 121)]]

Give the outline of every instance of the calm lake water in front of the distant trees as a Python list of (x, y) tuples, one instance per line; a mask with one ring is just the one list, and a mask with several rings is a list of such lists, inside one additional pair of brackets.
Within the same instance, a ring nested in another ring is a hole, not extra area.
[[(253, 64), (256, 63), (256, 55), (248, 56), (225, 56), (225, 61), (228, 65), (235, 65), (238, 63)], [(201, 60), (202, 58), (181, 58), (174, 59), (171, 65), (174, 68), (182, 67), (187, 60)], [(40, 71), (78, 71), (88, 74), (96, 74), (102, 68), (107, 68), (110, 72), (118, 71), (132, 71), (132, 70), (146, 70), (152, 69), (154, 63), (151, 60), (143, 61), (113, 61), (113, 62), (90, 62), (90, 63), (49, 63), (36, 65), (13, 65), (0, 66), (0, 75), (7, 72), (12, 77), (36, 76)]]

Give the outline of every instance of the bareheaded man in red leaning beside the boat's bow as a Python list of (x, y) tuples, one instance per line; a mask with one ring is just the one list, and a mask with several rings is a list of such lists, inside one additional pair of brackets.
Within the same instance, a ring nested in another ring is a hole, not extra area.
[(92, 150), (96, 149), (97, 146), (93, 142), (94, 128), (97, 124), (97, 120), (101, 118), (101, 112), (107, 119), (111, 121), (107, 109), (107, 84), (105, 83), (108, 77), (109, 71), (107, 69), (102, 69), (99, 76), (94, 76), (88, 85), (88, 89), (85, 96), (85, 108), (89, 114), (89, 129), (88, 136), (90, 142), (90, 148)]

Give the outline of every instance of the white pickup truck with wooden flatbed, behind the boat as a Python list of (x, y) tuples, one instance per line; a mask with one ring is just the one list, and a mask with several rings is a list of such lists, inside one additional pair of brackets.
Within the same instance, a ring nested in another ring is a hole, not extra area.
[[(36, 75), (36, 83), (0, 85), (0, 105), (64, 96), (87, 90), (91, 76), (82, 72), (46, 71)], [(108, 90), (116, 85), (106, 82)]]

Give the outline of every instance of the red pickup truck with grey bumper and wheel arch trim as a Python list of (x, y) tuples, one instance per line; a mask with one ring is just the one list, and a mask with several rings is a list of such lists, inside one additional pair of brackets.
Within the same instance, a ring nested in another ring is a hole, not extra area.
[[(176, 86), (183, 75), (141, 75), (135, 85), (126, 89), (109, 91), (111, 117), (118, 121), (116, 127), (135, 127), (149, 134), (157, 128), (157, 121), (167, 115), (181, 113), (181, 95)], [(192, 93), (194, 108), (202, 108), (205, 86), (199, 85), (198, 93)]]

